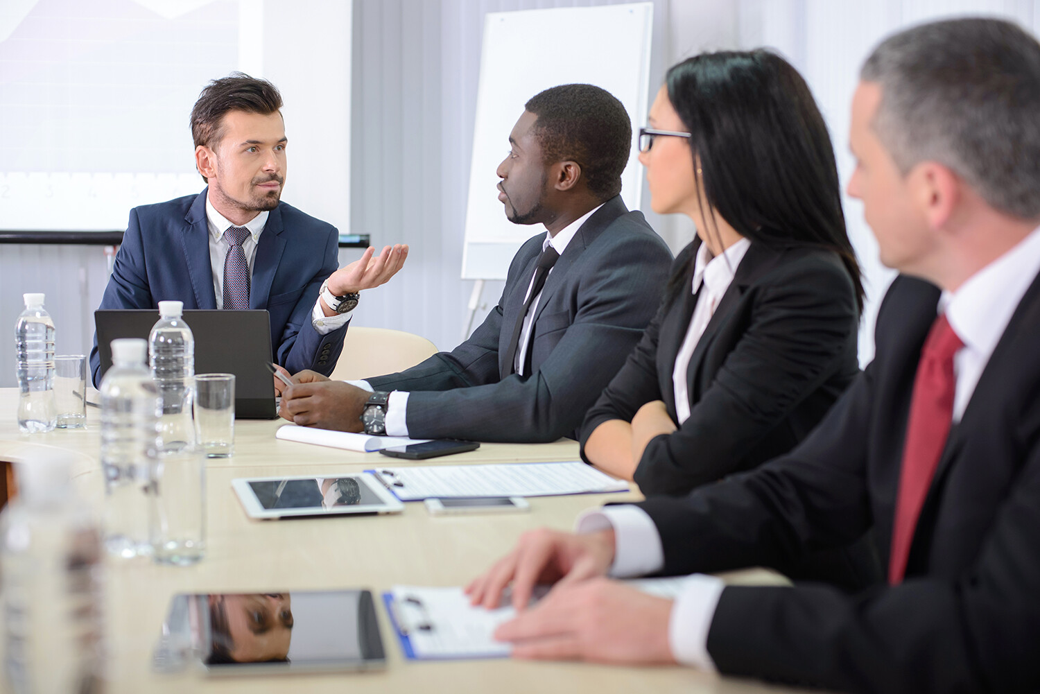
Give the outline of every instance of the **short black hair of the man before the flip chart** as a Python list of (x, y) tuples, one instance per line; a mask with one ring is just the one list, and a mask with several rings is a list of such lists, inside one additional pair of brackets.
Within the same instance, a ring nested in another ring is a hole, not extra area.
[(524, 108), (538, 117), (534, 134), (547, 164), (578, 162), (586, 186), (600, 200), (621, 192), (632, 123), (614, 95), (593, 84), (561, 84), (535, 95)]

